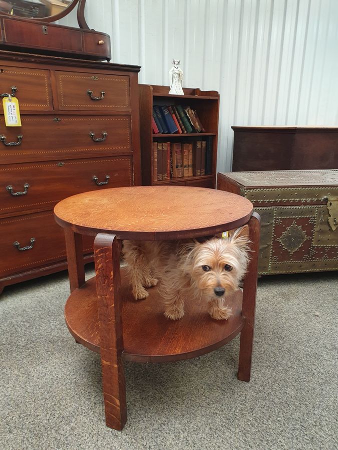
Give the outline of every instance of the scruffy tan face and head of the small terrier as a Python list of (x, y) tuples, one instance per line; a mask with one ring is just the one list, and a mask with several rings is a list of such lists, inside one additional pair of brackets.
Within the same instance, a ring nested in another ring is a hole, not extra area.
[(247, 268), (248, 243), (241, 229), (228, 239), (196, 242), (186, 261), (192, 285), (208, 297), (223, 297), (236, 290)]

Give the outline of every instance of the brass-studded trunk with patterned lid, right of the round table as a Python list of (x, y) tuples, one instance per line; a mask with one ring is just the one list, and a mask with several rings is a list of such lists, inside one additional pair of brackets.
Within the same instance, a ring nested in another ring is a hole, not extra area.
[(218, 173), (261, 216), (258, 273), (338, 269), (338, 170)]

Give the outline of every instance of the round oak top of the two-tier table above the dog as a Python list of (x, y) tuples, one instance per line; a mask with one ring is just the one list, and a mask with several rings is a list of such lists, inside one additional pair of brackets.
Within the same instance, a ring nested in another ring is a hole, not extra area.
[(207, 236), (246, 223), (252, 203), (222, 190), (188, 186), (115, 187), (60, 201), (56, 221), (80, 234), (119, 239), (182, 239)]

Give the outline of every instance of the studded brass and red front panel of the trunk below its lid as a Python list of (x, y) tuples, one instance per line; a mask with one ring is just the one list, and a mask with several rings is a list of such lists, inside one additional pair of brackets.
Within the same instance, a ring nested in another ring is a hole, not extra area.
[(261, 216), (258, 273), (338, 269), (338, 230), (326, 204), (255, 208)]

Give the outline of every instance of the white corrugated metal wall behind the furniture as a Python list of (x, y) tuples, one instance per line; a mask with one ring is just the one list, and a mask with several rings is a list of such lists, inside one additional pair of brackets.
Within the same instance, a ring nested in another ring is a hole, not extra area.
[(87, 0), (86, 17), (141, 83), (167, 85), (175, 57), (184, 86), (220, 92), (218, 170), (231, 125), (338, 125), (338, 0)]

